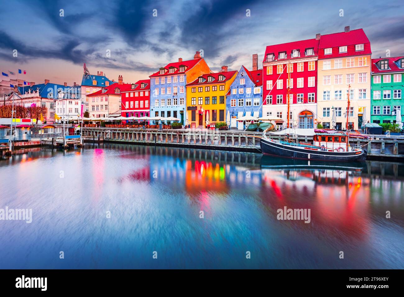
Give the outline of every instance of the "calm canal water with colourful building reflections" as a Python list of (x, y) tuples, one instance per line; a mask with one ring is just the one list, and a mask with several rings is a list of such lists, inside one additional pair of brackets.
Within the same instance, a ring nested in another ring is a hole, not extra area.
[(32, 209), (0, 220), (0, 268), (404, 268), (402, 163), (86, 144), (0, 175), (0, 209)]

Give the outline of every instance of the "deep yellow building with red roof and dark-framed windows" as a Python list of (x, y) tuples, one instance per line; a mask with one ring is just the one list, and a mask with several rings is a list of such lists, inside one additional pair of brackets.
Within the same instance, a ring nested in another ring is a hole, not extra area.
[(187, 119), (191, 128), (206, 128), (209, 123), (226, 121), (226, 96), (237, 71), (222, 67), (219, 73), (207, 73), (187, 84)]

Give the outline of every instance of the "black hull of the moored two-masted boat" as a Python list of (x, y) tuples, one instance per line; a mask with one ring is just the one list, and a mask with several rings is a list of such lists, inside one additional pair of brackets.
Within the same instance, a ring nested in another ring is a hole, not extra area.
[(315, 151), (305, 148), (291, 147), (261, 138), (261, 151), (265, 155), (274, 155), (292, 159), (351, 162), (366, 159), (366, 151), (360, 152), (329, 152)]

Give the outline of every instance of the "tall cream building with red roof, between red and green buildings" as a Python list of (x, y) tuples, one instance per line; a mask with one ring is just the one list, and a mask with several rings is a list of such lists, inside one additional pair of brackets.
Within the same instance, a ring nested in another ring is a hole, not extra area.
[[(345, 130), (348, 90), (350, 129), (370, 120), (370, 42), (362, 29), (321, 36), (318, 48), (317, 123)], [(332, 123), (335, 112), (336, 122)], [(366, 113), (366, 115), (365, 115)]]

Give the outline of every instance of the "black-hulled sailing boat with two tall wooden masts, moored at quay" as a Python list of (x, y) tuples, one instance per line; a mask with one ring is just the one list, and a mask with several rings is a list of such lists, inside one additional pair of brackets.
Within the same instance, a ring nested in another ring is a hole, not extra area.
[[(290, 62), (288, 62), (290, 63)], [(350, 87), (350, 86), (349, 86)], [(290, 128), (290, 71), (288, 72), (287, 88), (287, 127), (285, 130), (273, 132), (273, 134), (284, 135), (284, 139), (267, 138), (265, 132), (261, 137), (260, 146), (263, 154), (292, 159), (316, 160), (316, 161), (338, 161), (349, 162), (366, 159), (367, 152), (361, 146), (351, 146), (349, 144), (348, 118), (349, 118), (349, 89), (347, 108), (347, 132), (332, 132), (318, 129), (297, 129)], [(290, 135), (296, 135), (292, 139)], [(299, 142), (297, 135), (313, 136), (313, 144)]]

